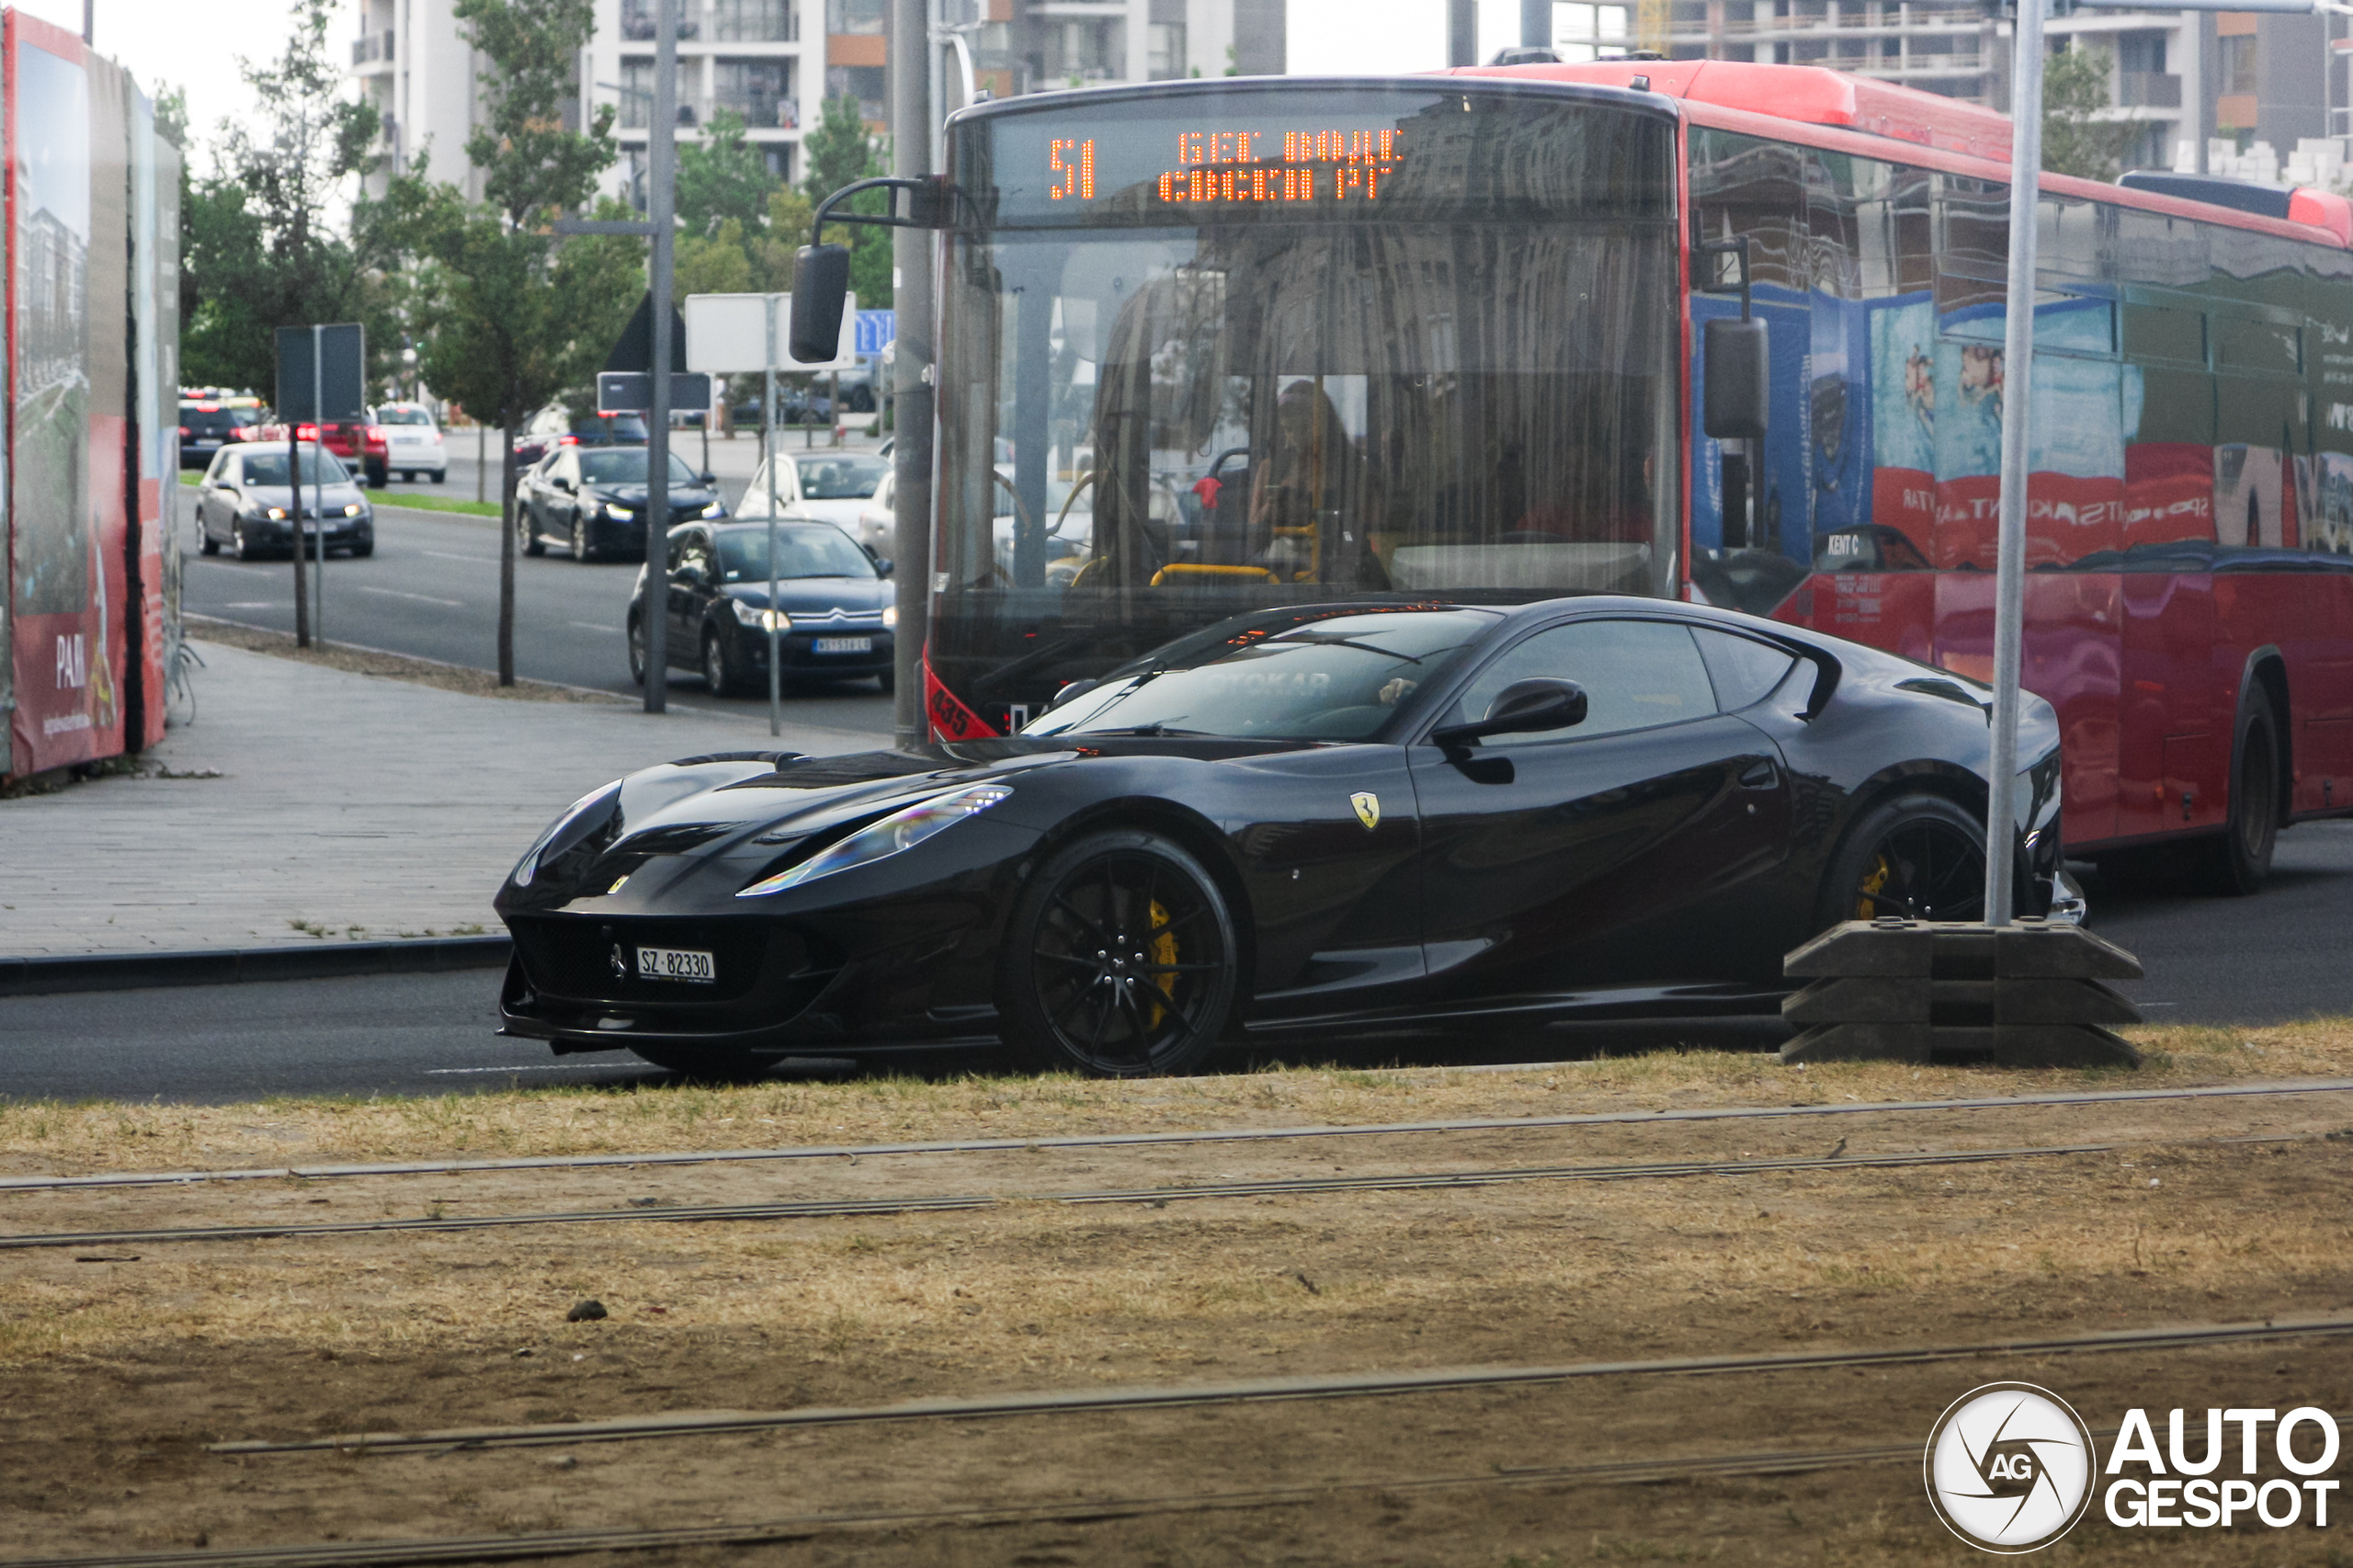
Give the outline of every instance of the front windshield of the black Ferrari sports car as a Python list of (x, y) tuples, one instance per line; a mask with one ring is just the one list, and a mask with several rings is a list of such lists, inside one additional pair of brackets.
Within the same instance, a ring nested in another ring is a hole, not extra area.
[(1167, 666), (1113, 676), (1024, 735), (1369, 739), (1497, 619), (1489, 610), (1372, 610), (1271, 633), (1240, 622), (1231, 636), (1179, 643)]

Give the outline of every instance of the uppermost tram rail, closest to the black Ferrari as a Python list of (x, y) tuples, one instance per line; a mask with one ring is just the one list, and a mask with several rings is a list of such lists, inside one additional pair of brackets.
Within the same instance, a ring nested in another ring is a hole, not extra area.
[[(1532, 1062), (1527, 1071), (1577, 1067), (1574, 1062)], [(1569, 1116), (1468, 1116), (1445, 1121), (1334, 1123), (1301, 1128), (1202, 1128), (1179, 1132), (1080, 1132), (1047, 1137), (969, 1137), (889, 1144), (786, 1144), (774, 1149), (661, 1149), (619, 1154), (536, 1154), (480, 1161), (379, 1161), (344, 1165), (231, 1165), (221, 1170), (122, 1170), (92, 1175), (21, 1175), (0, 1177), (9, 1191), (75, 1191), (104, 1187), (188, 1187), (200, 1182), (334, 1182), (388, 1175), (478, 1175), (501, 1170), (598, 1170), (656, 1165), (727, 1165), (758, 1161), (838, 1161), (901, 1154), (1033, 1154), (1047, 1149), (1144, 1149), (1172, 1144), (1249, 1144), (1299, 1142), (1322, 1137), (1412, 1137), (1435, 1132), (1522, 1132), (1546, 1128), (1666, 1125), (1699, 1121), (1777, 1121), (1798, 1116), (1925, 1116), (1939, 1111), (2012, 1111), (2040, 1107), (2129, 1107), (2169, 1099), (2268, 1099), (2287, 1095), (2344, 1095), (2353, 1078), (2311, 1078), (2287, 1083), (2205, 1083), (2162, 1090), (2080, 1090), (2071, 1095), (1993, 1095), (1981, 1099), (1882, 1099), (1845, 1104), (1751, 1104), (1751, 1107), (1671, 1107), (1659, 1111), (1581, 1111)]]

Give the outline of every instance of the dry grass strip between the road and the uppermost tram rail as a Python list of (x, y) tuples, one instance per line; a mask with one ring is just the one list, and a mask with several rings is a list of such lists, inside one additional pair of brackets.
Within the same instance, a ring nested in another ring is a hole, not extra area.
[(2353, 1019), (2139, 1029), (2141, 1071), (2002, 1071), (1659, 1050), (1518, 1071), (1285, 1067), (1207, 1078), (849, 1078), (562, 1088), (231, 1107), (0, 1097), (0, 1170), (94, 1172), (395, 1158), (755, 1149), (1169, 1128), (1828, 1104), (2353, 1076)]

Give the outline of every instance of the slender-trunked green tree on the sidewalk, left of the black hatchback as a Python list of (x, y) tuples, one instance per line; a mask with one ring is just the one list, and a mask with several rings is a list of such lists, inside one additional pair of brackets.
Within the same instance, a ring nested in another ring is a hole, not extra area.
[[(485, 118), (466, 139), (485, 200), (468, 205), (419, 162), (369, 217), (386, 247), (419, 259), (426, 381), (499, 424), (499, 685), (513, 685), (515, 428), (602, 363), (645, 290), (645, 245), (619, 235), (558, 245), (551, 233), (588, 205), (614, 160), (609, 106), (586, 129), (565, 127), (593, 0), (456, 0), (454, 12), (487, 64)], [(598, 217), (631, 214), (607, 200)]]

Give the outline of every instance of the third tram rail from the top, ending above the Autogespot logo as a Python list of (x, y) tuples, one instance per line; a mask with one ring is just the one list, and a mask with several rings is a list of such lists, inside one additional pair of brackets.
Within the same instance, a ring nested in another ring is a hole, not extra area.
[[(805, 1406), (795, 1410), (666, 1410), (595, 1422), (532, 1422), (511, 1427), (452, 1427), (440, 1431), (353, 1431), (313, 1439), (252, 1439), (207, 1443), (216, 1455), (294, 1453), (473, 1453), (489, 1448), (551, 1448), (673, 1436), (722, 1436), (812, 1427), (871, 1427), (889, 1422), (1007, 1420), (1118, 1410), (1181, 1410), (1202, 1406), (1264, 1406), (1294, 1401), (1395, 1398), (1459, 1394), (1598, 1377), (1725, 1377), (1753, 1373), (1821, 1373), (1873, 1366), (1927, 1366), (2017, 1356), (2089, 1356), (2111, 1351), (2181, 1351), (2280, 1340), (2353, 1335), (2353, 1316), (2268, 1318), (2264, 1323), (2191, 1323), (2174, 1328), (2115, 1328), (2087, 1335), (1979, 1340), (1969, 1344), (1906, 1344), (1845, 1351), (1765, 1351), (1734, 1356), (1673, 1356), (1661, 1361), (1579, 1361), (1567, 1366), (1459, 1366), (1402, 1373), (1325, 1373), (1306, 1377), (1247, 1377), (1233, 1382), (1146, 1384), (1127, 1389), (1042, 1389), (958, 1398), (911, 1398), (894, 1406)], [(1918, 1450), (1915, 1450), (1918, 1453)]]

